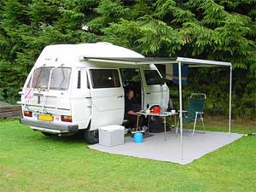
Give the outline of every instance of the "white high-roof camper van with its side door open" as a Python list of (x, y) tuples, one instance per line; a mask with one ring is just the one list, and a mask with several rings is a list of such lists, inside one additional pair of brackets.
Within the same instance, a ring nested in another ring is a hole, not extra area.
[(84, 131), (89, 143), (98, 142), (97, 129), (122, 125), (125, 89), (136, 89), (142, 109), (159, 105), (166, 110), (169, 89), (154, 64), (107, 63), (86, 58), (143, 58), (109, 43), (56, 44), (44, 48), (20, 91), (21, 124), (44, 135)]

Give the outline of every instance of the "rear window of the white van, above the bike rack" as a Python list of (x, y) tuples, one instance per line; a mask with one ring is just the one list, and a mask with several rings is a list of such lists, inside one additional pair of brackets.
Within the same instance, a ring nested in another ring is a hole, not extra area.
[[(35, 69), (32, 75), (32, 88), (46, 90), (49, 84), (50, 70), (54, 67), (39, 67)], [(71, 75), (71, 68), (57, 67), (54, 68), (51, 74), (49, 90), (67, 90), (69, 79)], [(31, 86), (31, 82), (27, 84)]]

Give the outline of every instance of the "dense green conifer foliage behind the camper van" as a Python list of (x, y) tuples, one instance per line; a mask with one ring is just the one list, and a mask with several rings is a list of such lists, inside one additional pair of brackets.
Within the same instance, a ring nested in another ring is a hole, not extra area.
[[(256, 103), (255, 0), (0, 0), (0, 84), (17, 98), (48, 44), (108, 41), (147, 56), (231, 61), (233, 105)], [(226, 108), (226, 69), (189, 73), (186, 90), (207, 93), (207, 108)]]

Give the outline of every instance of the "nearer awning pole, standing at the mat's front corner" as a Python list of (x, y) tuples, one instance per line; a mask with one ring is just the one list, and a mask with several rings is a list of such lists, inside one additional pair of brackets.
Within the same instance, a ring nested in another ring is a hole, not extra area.
[(179, 121), (180, 121), (180, 154), (183, 160), (183, 96), (181, 62), (178, 62), (178, 88), (179, 88)]

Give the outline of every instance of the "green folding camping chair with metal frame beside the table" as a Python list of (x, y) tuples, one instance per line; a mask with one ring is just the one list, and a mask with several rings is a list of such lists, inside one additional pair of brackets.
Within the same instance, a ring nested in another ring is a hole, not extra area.
[[(206, 130), (204, 125), (204, 118), (203, 118), (206, 99), (207, 99), (207, 95), (204, 93), (192, 93), (191, 96), (189, 97), (188, 110), (182, 111), (183, 123), (189, 123), (191, 121), (194, 121), (192, 137), (194, 136), (194, 133), (195, 133), (195, 125), (197, 121), (201, 121), (204, 131)], [(179, 126), (179, 119), (177, 122), (176, 134), (177, 134), (178, 126)]]

